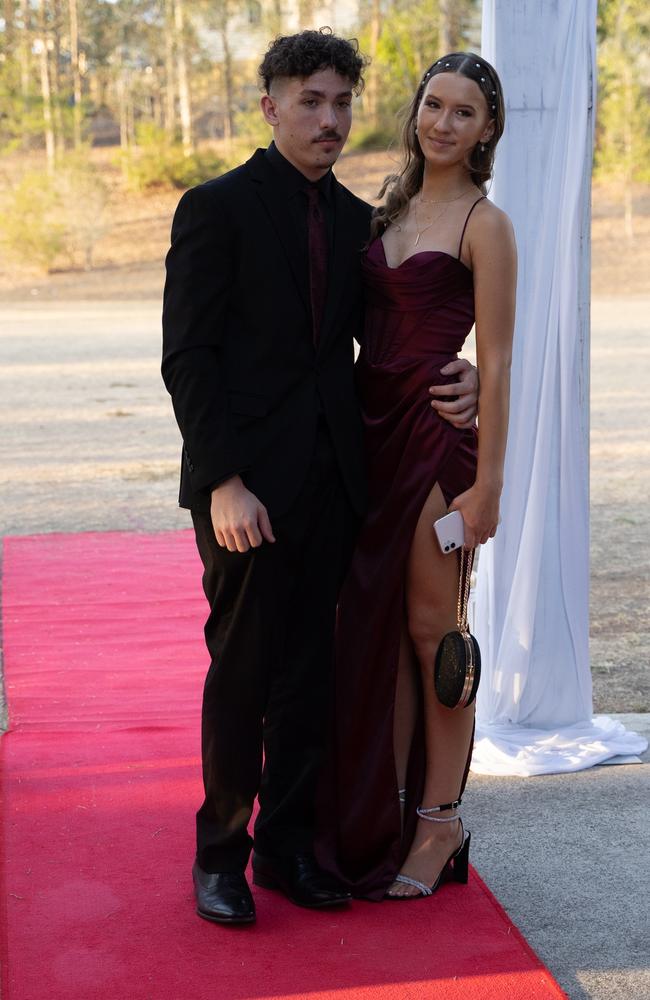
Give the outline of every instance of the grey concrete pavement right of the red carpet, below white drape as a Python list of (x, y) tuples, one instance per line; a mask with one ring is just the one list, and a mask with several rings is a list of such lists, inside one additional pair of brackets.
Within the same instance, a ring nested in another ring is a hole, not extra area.
[[(650, 715), (616, 715), (650, 738)], [(472, 863), (571, 1000), (650, 1000), (650, 753), (537, 778), (471, 775)]]

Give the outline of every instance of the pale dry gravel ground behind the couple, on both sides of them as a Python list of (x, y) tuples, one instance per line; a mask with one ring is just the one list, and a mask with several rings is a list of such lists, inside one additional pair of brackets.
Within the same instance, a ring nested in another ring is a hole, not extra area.
[[(592, 669), (597, 711), (650, 709), (650, 298), (592, 323)], [(152, 301), (0, 306), (0, 533), (189, 526)], [(644, 544), (645, 542), (645, 544)]]

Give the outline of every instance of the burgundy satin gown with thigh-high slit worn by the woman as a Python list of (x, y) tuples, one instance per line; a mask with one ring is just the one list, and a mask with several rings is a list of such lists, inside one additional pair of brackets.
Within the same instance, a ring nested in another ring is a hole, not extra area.
[(393, 711), (407, 559), (434, 485), (449, 503), (476, 476), (476, 430), (456, 430), (438, 416), (428, 388), (455, 381), (440, 369), (457, 357), (473, 326), (474, 289), (460, 247), (457, 258), (425, 250), (391, 268), (376, 239), (363, 272), (366, 322), (356, 378), (370, 504), (339, 603), (319, 856), (354, 895), (381, 899), (408, 852), (424, 783), (420, 718), (402, 838)]

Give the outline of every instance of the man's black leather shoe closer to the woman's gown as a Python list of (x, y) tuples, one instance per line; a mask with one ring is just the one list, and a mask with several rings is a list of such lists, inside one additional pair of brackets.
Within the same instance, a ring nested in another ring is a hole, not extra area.
[(313, 854), (268, 858), (255, 851), (253, 883), (263, 889), (278, 889), (292, 903), (311, 909), (341, 906), (352, 898), (347, 889), (318, 867)]

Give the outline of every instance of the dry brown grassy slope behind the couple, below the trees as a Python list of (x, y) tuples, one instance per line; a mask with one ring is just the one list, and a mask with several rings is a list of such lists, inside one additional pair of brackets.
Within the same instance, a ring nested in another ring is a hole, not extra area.
[[(169, 230), (180, 192), (125, 191), (114, 151), (91, 151), (93, 163), (109, 188), (107, 231), (94, 251), (91, 271), (66, 270), (49, 275), (17, 267), (0, 256), (0, 301), (159, 299)], [(42, 166), (32, 155), (5, 158), (0, 168), (2, 193), (26, 169)], [(385, 153), (343, 156), (337, 176), (359, 197), (375, 199), (385, 175), (395, 169)], [(615, 184), (593, 189), (592, 289), (598, 296), (650, 293), (650, 187), (635, 192), (634, 237), (623, 224), (622, 192)]]

